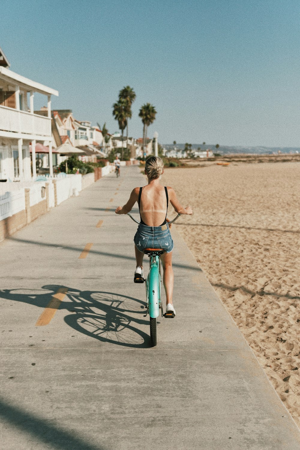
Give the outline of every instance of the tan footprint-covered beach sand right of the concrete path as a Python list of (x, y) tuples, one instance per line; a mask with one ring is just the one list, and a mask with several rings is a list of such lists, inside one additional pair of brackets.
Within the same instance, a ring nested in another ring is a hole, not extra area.
[(162, 177), (194, 211), (173, 226), (298, 426), (299, 175), (299, 162), (278, 162), (169, 168)]

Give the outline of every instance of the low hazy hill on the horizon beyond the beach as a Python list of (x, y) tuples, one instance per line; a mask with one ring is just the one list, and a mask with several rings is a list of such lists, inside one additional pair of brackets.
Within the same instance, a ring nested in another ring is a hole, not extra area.
[[(167, 150), (176, 147), (179, 150), (184, 149), (185, 144), (164, 144)], [(192, 149), (197, 150), (200, 147), (201, 150), (207, 150), (210, 148), (214, 153), (221, 153), (222, 155), (248, 153), (256, 155), (272, 155), (273, 153), (300, 153), (300, 147), (242, 147), (242, 146), (227, 146), (220, 145), (219, 148), (215, 148), (215, 145), (209, 144), (192, 144)]]

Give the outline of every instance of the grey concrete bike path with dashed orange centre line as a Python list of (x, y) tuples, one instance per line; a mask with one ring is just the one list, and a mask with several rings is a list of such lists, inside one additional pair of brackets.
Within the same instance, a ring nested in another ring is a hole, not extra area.
[(0, 448), (299, 450), (175, 227), (177, 316), (158, 320), (149, 347), (136, 225), (113, 212), (143, 184), (122, 167), (0, 244)]

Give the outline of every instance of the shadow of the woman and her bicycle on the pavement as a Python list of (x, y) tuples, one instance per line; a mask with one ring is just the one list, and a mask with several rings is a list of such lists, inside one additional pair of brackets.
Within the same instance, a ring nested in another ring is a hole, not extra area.
[[(136, 326), (149, 326), (143, 318), (145, 302), (134, 297), (102, 291), (79, 291), (61, 285), (45, 285), (39, 290), (4, 289), (0, 298), (25, 302), (45, 308), (58, 290), (65, 289), (66, 297), (59, 309), (70, 314), (64, 318), (70, 327), (102, 342), (118, 346), (148, 348), (151, 346), (147, 333)], [(66, 301), (65, 301), (66, 299)]]

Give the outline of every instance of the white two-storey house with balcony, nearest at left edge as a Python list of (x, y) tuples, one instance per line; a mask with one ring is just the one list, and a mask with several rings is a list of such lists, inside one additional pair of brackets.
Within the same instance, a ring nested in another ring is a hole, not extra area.
[[(36, 177), (36, 142), (49, 146), (53, 175), (51, 95), (58, 91), (12, 72), (0, 48), (0, 179)], [(47, 117), (34, 113), (34, 93), (47, 97)], [(29, 145), (32, 144), (32, 173)]]

